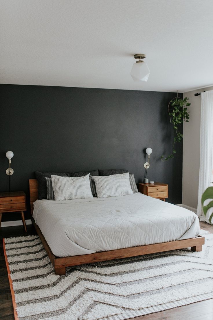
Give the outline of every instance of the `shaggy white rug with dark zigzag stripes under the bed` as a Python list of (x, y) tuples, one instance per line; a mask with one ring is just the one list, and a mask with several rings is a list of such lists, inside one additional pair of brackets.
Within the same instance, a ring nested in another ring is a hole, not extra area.
[(38, 236), (4, 239), (15, 319), (122, 320), (213, 298), (213, 234), (175, 250), (67, 268), (56, 276)]

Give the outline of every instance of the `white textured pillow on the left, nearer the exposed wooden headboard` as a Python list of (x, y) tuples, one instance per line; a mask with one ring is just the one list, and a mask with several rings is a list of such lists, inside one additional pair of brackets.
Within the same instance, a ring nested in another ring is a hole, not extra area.
[(89, 174), (83, 177), (51, 176), (55, 200), (93, 198)]

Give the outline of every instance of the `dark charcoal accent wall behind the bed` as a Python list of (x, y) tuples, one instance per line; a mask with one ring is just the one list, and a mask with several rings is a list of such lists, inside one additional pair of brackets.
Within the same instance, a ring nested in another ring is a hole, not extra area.
[[(27, 193), (34, 171), (123, 168), (144, 178), (144, 149), (151, 147), (148, 178), (169, 184), (168, 201), (182, 203), (182, 144), (171, 152), (168, 102), (176, 93), (2, 84), (0, 191), (8, 190), (5, 152), (13, 151), (11, 191)], [(29, 210), (26, 218), (29, 217)], [(3, 221), (18, 220), (8, 213)]]

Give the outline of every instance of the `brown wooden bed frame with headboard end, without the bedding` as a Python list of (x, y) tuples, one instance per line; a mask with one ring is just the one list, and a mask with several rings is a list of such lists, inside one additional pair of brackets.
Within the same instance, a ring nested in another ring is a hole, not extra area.
[[(33, 203), (38, 199), (37, 180), (30, 179), (29, 186), (30, 186), (31, 214), (33, 214)], [(96, 253), (90, 253), (90, 254), (83, 254), (79, 256), (58, 258), (52, 253), (47, 241), (45, 240), (40, 228), (35, 223), (33, 217), (31, 219), (35, 227), (35, 230), (42, 241), (44, 249), (46, 250), (49, 256), (49, 259), (52, 262), (53, 267), (55, 268), (56, 275), (65, 275), (66, 267), (76, 266), (76, 265), (91, 263), (91, 262), (134, 257), (138, 255), (148, 254), (148, 253), (164, 252), (164, 251), (182, 249), (187, 247), (191, 247), (192, 251), (202, 251), (202, 245), (204, 244), (204, 237), (198, 236), (197, 238), (191, 238), (186, 240), (177, 240), (177, 241), (170, 241), (170, 242), (157, 243), (157, 244), (148, 244), (148, 245), (141, 245), (141, 246), (132, 247), (132, 248), (117, 249), (117, 250), (96, 252)]]

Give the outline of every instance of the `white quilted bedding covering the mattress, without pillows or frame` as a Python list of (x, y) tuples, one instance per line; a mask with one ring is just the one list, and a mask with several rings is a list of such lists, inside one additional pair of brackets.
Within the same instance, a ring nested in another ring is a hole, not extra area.
[(57, 257), (194, 238), (197, 215), (143, 194), (36, 200), (33, 217)]

